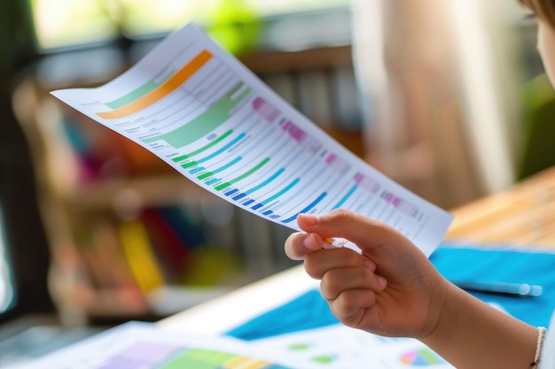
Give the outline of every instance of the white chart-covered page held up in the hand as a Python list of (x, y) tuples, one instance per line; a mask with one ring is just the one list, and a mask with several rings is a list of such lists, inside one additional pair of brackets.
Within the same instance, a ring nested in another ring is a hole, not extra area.
[(194, 24), (106, 85), (52, 95), (207, 191), (294, 230), (300, 213), (345, 208), (388, 223), (429, 256), (452, 219), (335, 142)]

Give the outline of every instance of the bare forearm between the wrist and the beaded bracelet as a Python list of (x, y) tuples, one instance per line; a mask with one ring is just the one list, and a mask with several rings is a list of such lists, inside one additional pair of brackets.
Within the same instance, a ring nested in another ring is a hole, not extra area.
[(449, 285), (434, 333), (422, 338), (457, 369), (525, 369), (537, 329)]

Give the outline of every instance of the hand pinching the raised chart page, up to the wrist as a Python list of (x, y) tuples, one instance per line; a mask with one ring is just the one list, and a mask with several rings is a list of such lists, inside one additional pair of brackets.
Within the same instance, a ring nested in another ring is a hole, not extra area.
[[(322, 296), (332, 313), (349, 327), (373, 334), (423, 338), (434, 331), (448, 282), (403, 234), (351, 211), (299, 215), (307, 233), (285, 241), (289, 258), (303, 259), (312, 278), (321, 280)], [(325, 238), (354, 242), (323, 250)]]

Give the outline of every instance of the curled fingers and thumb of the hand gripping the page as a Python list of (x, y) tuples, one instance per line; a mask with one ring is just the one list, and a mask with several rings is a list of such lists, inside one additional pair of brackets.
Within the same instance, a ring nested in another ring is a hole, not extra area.
[[(368, 234), (357, 233), (353, 228), (369, 227), (371, 219), (356, 218), (356, 214), (345, 211), (332, 211), (318, 218), (299, 216), (301, 229), (308, 233), (291, 234), (285, 241), (285, 254), (295, 260), (304, 259), (307, 273), (321, 280), (320, 291), (332, 313), (351, 327), (360, 324), (368, 309), (376, 304), (376, 294), (387, 286), (386, 279), (374, 273), (376, 265), (371, 259), (347, 248), (323, 250), (323, 237), (367, 242)], [(382, 227), (372, 226), (374, 231)], [(386, 232), (395, 240), (396, 232)], [(380, 242), (391, 242), (389, 236), (381, 237)]]

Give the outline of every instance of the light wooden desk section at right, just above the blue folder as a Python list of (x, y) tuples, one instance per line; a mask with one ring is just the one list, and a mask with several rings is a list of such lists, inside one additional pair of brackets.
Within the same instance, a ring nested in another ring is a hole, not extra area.
[(555, 248), (555, 167), (450, 212), (447, 240)]

